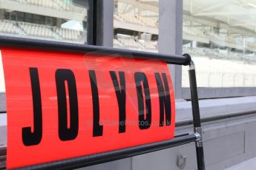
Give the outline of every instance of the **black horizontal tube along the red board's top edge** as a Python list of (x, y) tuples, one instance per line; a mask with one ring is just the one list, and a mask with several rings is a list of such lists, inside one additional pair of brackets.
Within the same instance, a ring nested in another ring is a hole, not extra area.
[(153, 61), (165, 61), (167, 64), (189, 65), (191, 58), (183, 55), (163, 55), (154, 52), (122, 50), (112, 47), (100, 47), (85, 44), (71, 44), (58, 41), (45, 41), (30, 38), (16, 38), (0, 35), (0, 47), (21, 47), (39, 50), (57, 50), (64, 52), (95, 53), (100, 55), (116, 55), (123, 58), (142, 58)]

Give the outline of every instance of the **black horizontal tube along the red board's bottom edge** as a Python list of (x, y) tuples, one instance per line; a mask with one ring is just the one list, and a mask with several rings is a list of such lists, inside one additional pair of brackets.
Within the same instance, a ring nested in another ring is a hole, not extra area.
[[(134, 146), (125, 149), (91, 154), (84, 157), (74, 157), (67, 160), (58, 160), (51, 163), (42, 163), (35, 166), (22, 167), (22, 169), (78, 169), (85, 166), (93, 166), (99, 163), (106, 163), (113, 160), (132, 157), (148, 152), (155, 152), (162, 149), (168, 149), (174, 146), (180, 146), (200, 140), (200, 135), (186, 134), (174, 137), (172, 140), (163, 140), (157, 143), (149, 143), (142, 146)], [(0, 147), (0, 169), (5, 168), (6, 146)]]

